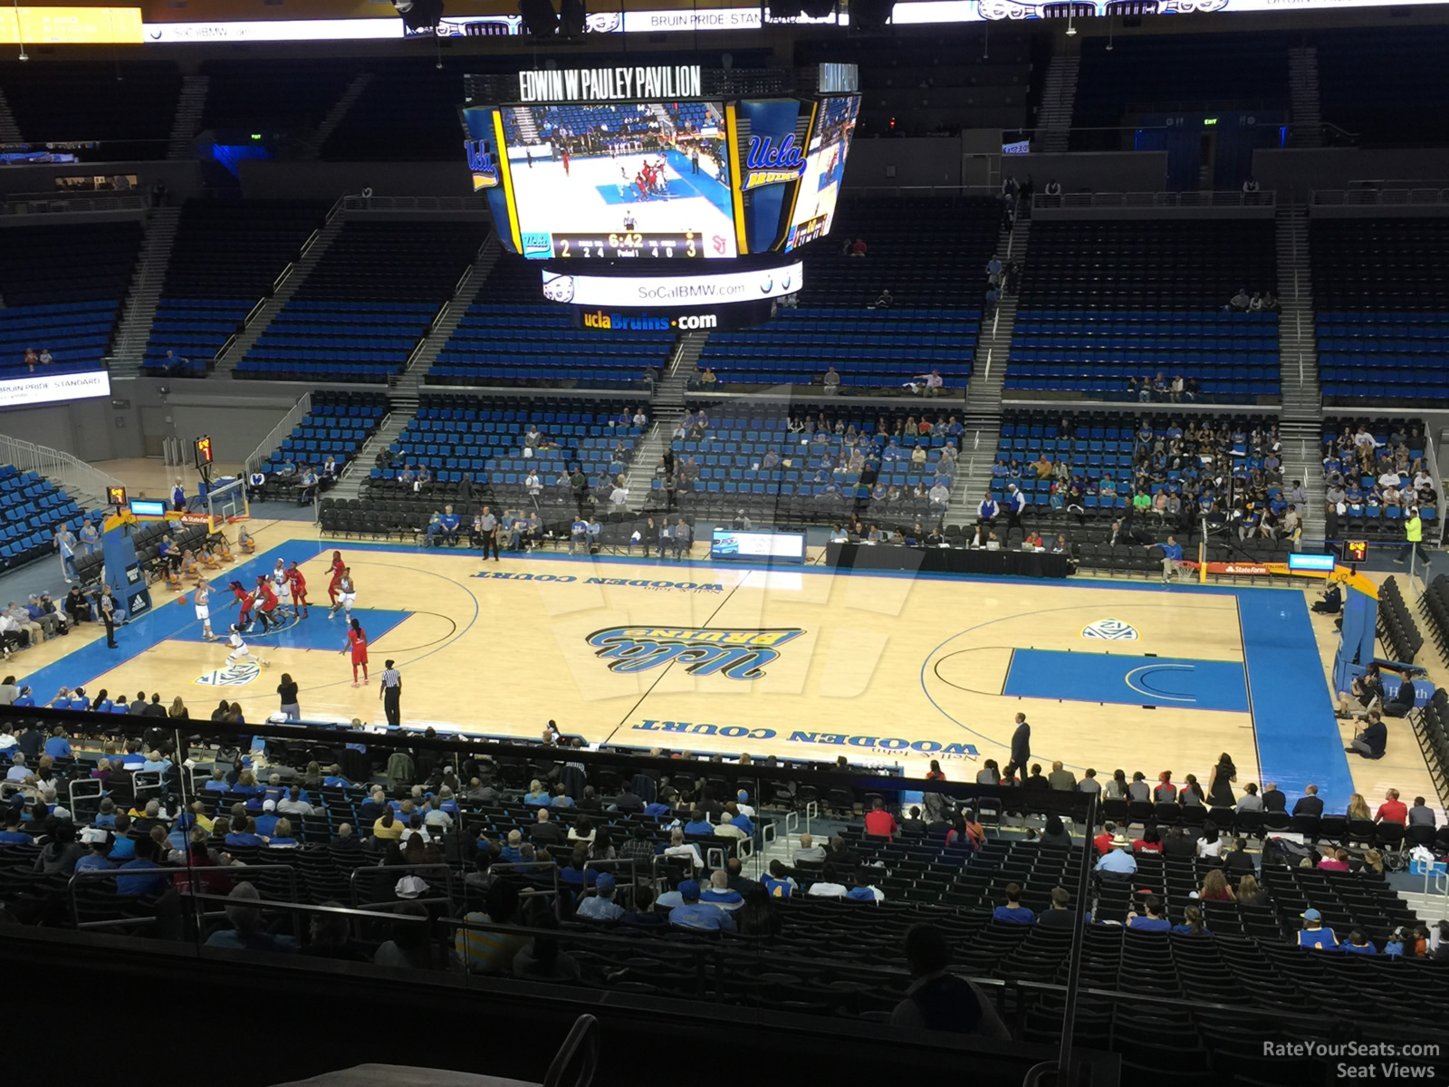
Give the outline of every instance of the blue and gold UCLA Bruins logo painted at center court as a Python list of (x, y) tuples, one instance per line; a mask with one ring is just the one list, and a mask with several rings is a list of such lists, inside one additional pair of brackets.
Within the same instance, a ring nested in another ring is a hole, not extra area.
[(691, 675), (758, 680), (780, 659), (780, 646), (804, 630), (736, 630), (724, 628), (610, 626), (587, 641), (611, 672), (642, 672), (678, 661)]

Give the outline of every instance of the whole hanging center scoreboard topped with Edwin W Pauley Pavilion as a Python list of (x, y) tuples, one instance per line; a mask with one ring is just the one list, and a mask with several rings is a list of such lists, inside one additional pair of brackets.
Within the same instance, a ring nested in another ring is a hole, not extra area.
[(809, 93), (740, 97), (697, 65), (468, 77), (474, 191), (580, 328), (765, 320), (830, 230), (861, 106), (853, 65), (777, 75)]

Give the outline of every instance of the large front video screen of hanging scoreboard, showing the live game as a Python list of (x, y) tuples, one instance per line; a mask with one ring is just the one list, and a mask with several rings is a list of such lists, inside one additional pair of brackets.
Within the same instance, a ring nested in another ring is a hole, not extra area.
[(716, 101), (504, 106), (532, 258), (738, 257)]

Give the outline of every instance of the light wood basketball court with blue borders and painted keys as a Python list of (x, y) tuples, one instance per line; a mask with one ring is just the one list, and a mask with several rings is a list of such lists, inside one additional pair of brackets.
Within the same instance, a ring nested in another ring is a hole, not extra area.
[[(549, 551), (484, 562), (465, 548), (319, 542), (297, 522), (252, 525), (256, 555), (216, 571), (213, 626), (236, 607), (225, 584), (254, 584), (297, 559), (312, 615), (248, 635), (265, 670), (226, 667), (190, 604), (154, 587), (155, 609), (117, 633), (52, 639), (16, 664), (48, 700), (61, 686), (112, 696), (181, 693), (196, 716), (217, 700), (248, 720), (277, 710), (290, 672), (309, 719), (381, 720), (375, 677), (394, 658), (403, 720), (536, 738), (548, 717), (590, 742), (675, 751), (901, 764), (974, 780), (1007, 762), (1014, 715), (1032, 755), (1078, 775), (1171, 770), (1207, 786), (1220, 752), (1239, 781), (1290, 794), (1316, 783), (1329, 810), (1359, 788), (1433, 796), (1417, 745), (1392, 722), (1391, 757), (1343, 752), (1324, 654), (1329, 620), (1298, 588), (1152, 581), (974, 580), (749, 568), (706, 559), (584, 558)], [(345, 622), (329, 620), (332, 551), (358, 588), (372, 686), (354, 688)], [(703, 545), (697, 552), (703, 551)], [(1314, 583), (1316, 588), (1317, 584)], [(1317, 625), (1317, 626), (1316, 626)], [(1355, 775), (1359, 781), (1355, 786)]]

